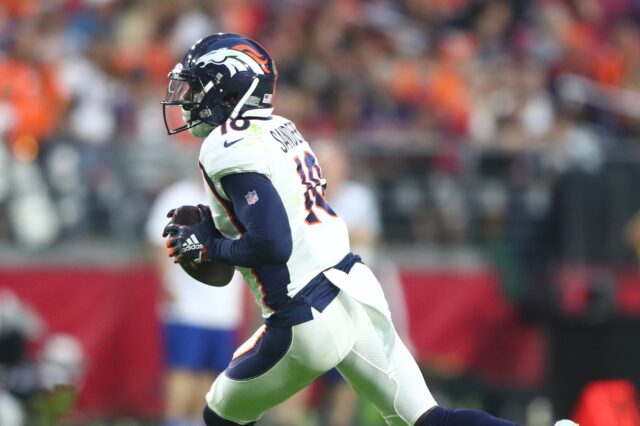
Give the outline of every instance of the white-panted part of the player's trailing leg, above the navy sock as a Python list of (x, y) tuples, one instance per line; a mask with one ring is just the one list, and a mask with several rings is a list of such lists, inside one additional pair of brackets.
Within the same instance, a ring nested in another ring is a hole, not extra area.
[(413, 425), (436, 406), (418, 365), (391, 322), (380, 283), (371, 270), (353, 266), (348, 276), (329, 274), (343, 291), (334, 303), (348, 310), (357, 339), (337, 368), (389, 425)]

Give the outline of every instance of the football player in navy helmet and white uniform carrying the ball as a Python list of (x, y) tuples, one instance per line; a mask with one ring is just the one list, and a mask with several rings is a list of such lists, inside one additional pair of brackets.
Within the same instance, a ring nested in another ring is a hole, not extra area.
[(252, 425), (337, 367), (389, 425), (513, 425), (437, 405), (380, 283), (350, 251), (313, 150), (291, 121), (273, 114), (276, 79), (261, 45), (216, 34), (169, 73), (163, 102), (169, 134), (206, 138), (199, 166), (209, 196), (201, 223), (165, 228), (170, 256), (234, 265), (264, 317), (206, 394), (205, 423)]

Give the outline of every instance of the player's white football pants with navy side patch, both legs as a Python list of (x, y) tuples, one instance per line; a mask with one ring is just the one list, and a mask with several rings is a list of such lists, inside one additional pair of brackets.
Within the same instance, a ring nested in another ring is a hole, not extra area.
[[(291, 327), (290, 332), (272, 330), (284, 333), (284, 338), (267, 339), (271, 327), (262, 326), (238, 349), (234, 360), (251, 357), (250, 351), (264, 339), (263, 354), (249, 363), (266, 367), (253, 374), (244, 371), (239, 378), (232, 361), (206, 395), (216, 414), (239, 424), (256, 421), (333, 367), (358, 395), (378, 408), (389, 425), (413, 425), (436, 405), (393, 327), (382, 288), (371, 270), (356, 263), (349, 274), (330, 269), (325, 276), (342, 291), (323, 312), (313, 309), (314, 319)], [(271, 361), (270, 354), (275, 354)]]

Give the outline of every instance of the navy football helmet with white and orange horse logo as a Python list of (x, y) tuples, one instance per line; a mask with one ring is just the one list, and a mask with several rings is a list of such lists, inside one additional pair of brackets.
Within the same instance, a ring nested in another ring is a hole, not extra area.
[(247, 37), (219, 33), (198, 40), (169, 72), (162, 102), (167, 132), (198, 125), (210, 131), (228, 119), (250, 117), (247, 111), (271, 108), (277, 77), (269, 53)]

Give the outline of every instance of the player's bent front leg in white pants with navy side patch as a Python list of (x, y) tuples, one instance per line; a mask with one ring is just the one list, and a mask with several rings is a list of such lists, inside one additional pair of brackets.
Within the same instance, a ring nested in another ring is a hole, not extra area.
[(340, 362), (355, 337), (334, 325), (349, 314), (335, 303), (313, 314), (293, 327), (263, 326), (238, 349), (206, 395), (207, 425), (251, 424)]

